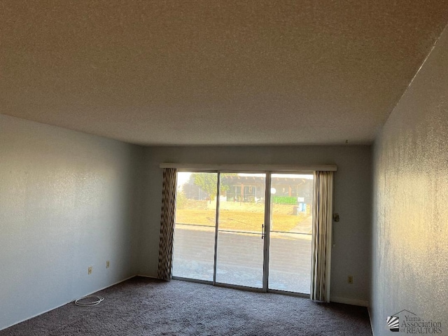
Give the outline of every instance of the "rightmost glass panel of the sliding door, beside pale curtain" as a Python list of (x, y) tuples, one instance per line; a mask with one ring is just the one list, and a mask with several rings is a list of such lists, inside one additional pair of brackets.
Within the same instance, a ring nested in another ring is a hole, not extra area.
[(309, 293), (312, 174), (272, 174), (269, 288)]

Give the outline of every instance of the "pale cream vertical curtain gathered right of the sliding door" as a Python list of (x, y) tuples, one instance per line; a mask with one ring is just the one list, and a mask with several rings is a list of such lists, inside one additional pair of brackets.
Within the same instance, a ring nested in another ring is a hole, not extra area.
[(314, 172), (311, 300), (330, 302), (333, 172)]

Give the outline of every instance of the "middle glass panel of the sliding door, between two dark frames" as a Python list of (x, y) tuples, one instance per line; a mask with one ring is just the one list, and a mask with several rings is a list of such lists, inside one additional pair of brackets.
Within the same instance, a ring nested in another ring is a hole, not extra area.
[(265, 174), (221, 174), (216, 282), (262, 288)]

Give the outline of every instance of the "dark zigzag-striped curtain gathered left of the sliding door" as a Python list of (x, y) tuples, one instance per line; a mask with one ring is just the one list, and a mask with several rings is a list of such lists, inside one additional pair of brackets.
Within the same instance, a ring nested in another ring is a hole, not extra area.
[(163, 169), (162, 214), (160, 219), (158, 278), (171, 280), (174, 215), (176, 214), (177, 169)]

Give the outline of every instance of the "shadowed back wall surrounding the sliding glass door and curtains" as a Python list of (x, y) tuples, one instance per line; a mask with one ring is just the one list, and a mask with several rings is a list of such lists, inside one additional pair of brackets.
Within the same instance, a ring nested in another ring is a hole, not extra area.
[[(365, 304), (370, 283), (370, 146), (148, 147), (140, 274), (157, 275), (162, 162), (225, 164), (335, 164), (335, 211), (331, 299)], [(354, 283), (346, 282), (353, 275)]]

